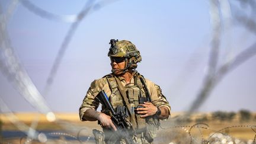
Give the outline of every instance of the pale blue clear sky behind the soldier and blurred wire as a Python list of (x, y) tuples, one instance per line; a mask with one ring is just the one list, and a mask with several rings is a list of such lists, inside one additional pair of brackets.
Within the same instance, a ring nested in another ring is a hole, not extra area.
[[(187, 111), (196, 100), (209, 68), (216, 31), (210, 1), (30, 2), (65, 17), (79, 14), (87, 3), (96, 4), (77, 23), (47, 92), (47, 78), (73, 23), (47, 17), (46, 12), (36, 14), (21, 3), (9, 18), (7, 31), (15, 55), (52, 111), (78, 112), (91, 82), (111, 73), (107, 57), (110, 39), (135, 44), (142, 55), (136, 70), (161, 87), (172, 111)], [(230, 21), (225, 19), (225, 9), (219, 9), (222, 27), (217, 68), (255, 43), (255, 33), (234, 18), (235, 8), (249, 15), (250, 7), (232, 2)], [(10, 1), (0, 1), (1, 11), (6, 12), (9, 4)], [(198, 111), (256, 111), (255, 63), (256, 56), (252, 56), (223, 76)], [(1, 71), (0, 96), (8, 108), (14, 112), (38, 111), (11, 81)]]

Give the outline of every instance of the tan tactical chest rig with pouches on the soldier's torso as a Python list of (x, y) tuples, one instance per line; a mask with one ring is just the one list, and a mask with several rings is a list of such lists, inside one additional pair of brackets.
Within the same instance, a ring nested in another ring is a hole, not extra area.
[(149, 127), (151, 127), (148, 126), (148, 123), (152, 122), (152, 118), (142, 119), (140, 118), (140, 114), (136, 113), (136, 108), (139, 107), (139, 104), (147, 100), (145, 90), (143, 89), (143, 84), (140, 81), (139, 76), (141, 75), (138, 74), (134, 77), (134, 84), (127, 84), (123, 87), (124, 89), (121, 90), (119, 89), (120, 87), (117, 84), (118, 80), (114, 78), (113, 75), (105, 76), (111, 89), (111, 95), (109, 100), (114, 108), (120, 105), (126, 105), (126, 102), (125, 100), (123, 100), (124, 98), (122, 97), (120, 91), (126, 92), (126, 97), (129, 101), (129, 105), (127, 105), (127, 108), (130, 109), (128, 120), (130, 120), (130, 122), (132, 123), (133, 129), (137, 134), (145, 133), (146, 131), (148, 131)]

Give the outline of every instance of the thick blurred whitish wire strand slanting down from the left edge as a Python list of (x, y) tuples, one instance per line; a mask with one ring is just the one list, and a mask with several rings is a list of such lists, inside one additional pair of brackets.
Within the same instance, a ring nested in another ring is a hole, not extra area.
[[(13, 5), (17, 3), (12, 3)], [(10, 5), (9, 7), (14, 7)], [(11, 16), (12, 12), (8, 12)], [(46, 104), (43, 96), (37, 90), (36, 86), (31, 81), (27, 72), (23, 68), (15, 55), (14, 49), (11, 46), (11, 40), (7, 33), (7, 21), (6, 15), (1, 12), (0, 21), (0, 50), (2, 54), (1, 71), (4, 73), (9, 81), (14, 85), (18, 92), (27, 100), (33, 107), (40, 111), (40, 113), (48, 114), (52, 119), (55, 119), (55, 115)]]

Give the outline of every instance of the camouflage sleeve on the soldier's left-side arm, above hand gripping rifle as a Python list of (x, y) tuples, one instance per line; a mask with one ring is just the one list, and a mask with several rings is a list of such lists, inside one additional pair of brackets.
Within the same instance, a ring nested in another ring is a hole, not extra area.
[(91, 87), (89, 87), (87, 94), (85, 95), (84, 100), (82, 101), (82, 105), (79, 108), (79, 116), (81, 121), (85, 121), (84, 119), (84, 113), (89, 108), (93, 108), (94, 110), (97, 110), (98, 105), (100, 104), (99, 101), (95, 99), (95, 97), (98, 95), (98, 93), (104, 89), (106, 93), (108, 93), (108, 83), (105, 80), (105, 78), (97, 79), (91, 83)]

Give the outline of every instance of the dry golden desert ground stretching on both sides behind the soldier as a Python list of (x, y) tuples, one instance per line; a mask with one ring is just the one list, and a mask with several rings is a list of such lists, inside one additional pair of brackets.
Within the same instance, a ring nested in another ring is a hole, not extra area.
[[(197, 113), (184, 117), (184, 113), (172, 113), (168, 120), (161, 121), (154, 143), (255, 143), (256, 114), (245, 116)], [(97, 121), (82, 122), (76, 113), (57, 113), (56, 117), (56, 121), (49, 122), (43, 114), (1, 114), (0, 143), (95, 143), (92, 129), (101, 130)], [(44, 139), (40, 135), (28, 139), (25, 133), (30, 126), (44, 133)]]

